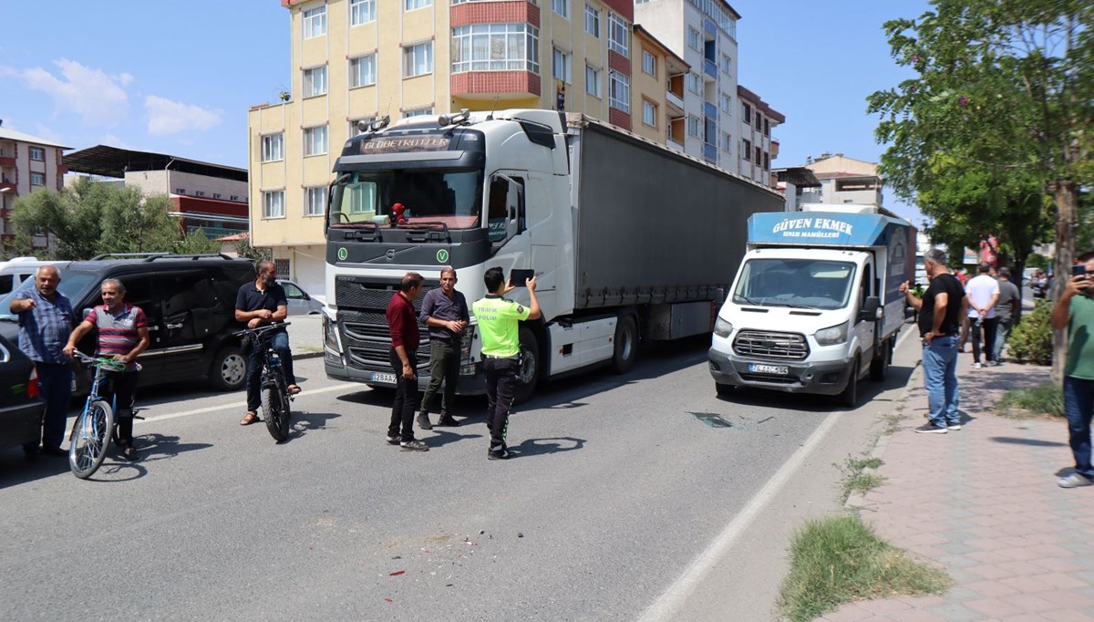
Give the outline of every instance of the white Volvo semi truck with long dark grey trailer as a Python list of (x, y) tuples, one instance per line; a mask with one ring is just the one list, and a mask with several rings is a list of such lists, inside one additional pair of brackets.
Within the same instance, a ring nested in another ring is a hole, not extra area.
[[(745, 252), (745, 223), (776, 192), (579, 114), (507, 110), (363, 126), (335, 164), (326, 223), (327, 376), (393, 387), (384, 310), (407, 272), (535, 272), (543, 318), (521, 327), (526, 398), (544, 378), (619, 372), (641, 339), (709, 332)], [(395, 204), (401, 207), (393, 211)], [(401, 212), (401, 218), (399, 218)], [(527, 292), (511, 295), (527, 302)], [(417, 302), (420, 304), (420, 301)], [(428, 353), (422, 331), (420, 353)], [(475, 320), (459, 391), (484, 390)], [(428, 356), (419, 381), (428, 381)]]

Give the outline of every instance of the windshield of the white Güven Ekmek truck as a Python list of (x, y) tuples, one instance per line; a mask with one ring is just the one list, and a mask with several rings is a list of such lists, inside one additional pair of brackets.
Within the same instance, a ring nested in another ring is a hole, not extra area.
[(854, 264), (765, 257), (748, 260), (733, 301), (737, 304), (841, 309), (851, 292)]

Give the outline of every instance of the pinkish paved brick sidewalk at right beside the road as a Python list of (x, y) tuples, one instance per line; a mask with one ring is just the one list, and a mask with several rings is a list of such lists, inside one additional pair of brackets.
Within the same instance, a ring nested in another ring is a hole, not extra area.
[(963, 429), (927, 435), (912, 431), (927, 412), (917, 369), (899, 429), (874, 450), (885, 482), (856, 505), (880, 537), (944, 567), (954, 586), (846, 604), (821, 620), (1094, 621), (1094, 487), (1056, 483), (1074, 464), (1067, 424), (1006, 419), (990, 407), (1049, 371), (1013, 362), (973, 370), (971, 355), (961, 355)]

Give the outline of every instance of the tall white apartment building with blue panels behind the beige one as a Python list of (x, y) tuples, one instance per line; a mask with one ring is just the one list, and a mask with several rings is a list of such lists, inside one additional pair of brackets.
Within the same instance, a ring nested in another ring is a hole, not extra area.
[[(684, 72), (683, 136), (670, 145), (728, 171), (740, 172), (736, 24), (724, 0), (636, 0), (635, 22), (688, 66)], [(675, 125), (674, 125), (675, 127)]]

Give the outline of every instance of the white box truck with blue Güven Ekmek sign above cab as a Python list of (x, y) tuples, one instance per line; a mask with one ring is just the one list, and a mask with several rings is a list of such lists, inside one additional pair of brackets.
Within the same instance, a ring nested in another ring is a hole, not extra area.
[(805, 204), (749, 217), (748, 252), (709, 352), (718, 393), (756, 387), (853, 406), (859, 380), (883, 380), (892, 362), (915, 235), (874, 206)]

